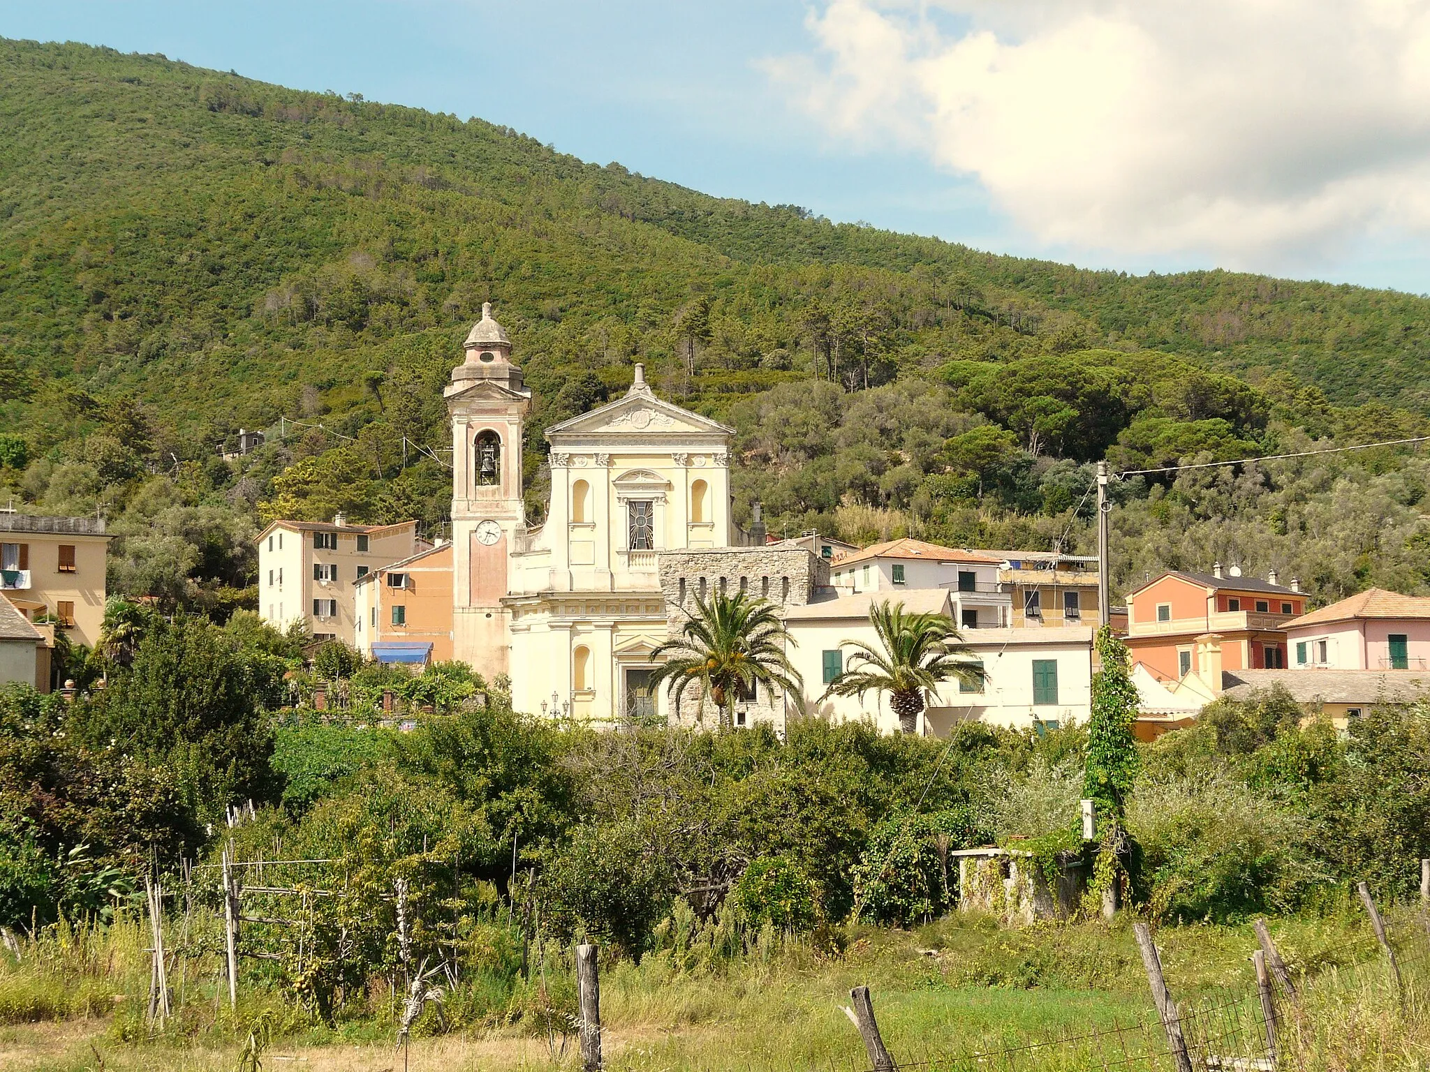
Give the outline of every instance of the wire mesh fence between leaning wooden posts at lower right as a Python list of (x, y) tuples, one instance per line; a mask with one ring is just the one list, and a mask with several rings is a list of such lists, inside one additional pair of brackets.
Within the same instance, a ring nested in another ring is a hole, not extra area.
[[(1317, 1069), (1351, 1021), (1390, 1016), (1430, 1031), (1430, 916), (1401, 912), (1387, 920), (1387, 945), (1353, 942), (1291, 965), (1284, 979), (1223, 986), (1155, 1002), (1144, 1015), (1091, 1031), (1025, 1038), (1015, 1045), (961, 1053), (899, 1053), (897, 1069), (927, 1072), (1273, 1072)], [(1394, 956), (1387, 955), (1387, 948)], [(1248, 951), (1250, 952), (1250, 951)], [(1168, 979), (1168, 988), (1177, 981)], [(829, 1069), (829, 1072), (845, 1072)], [(848, 1072), (889, 1072), (868, 1061)]]

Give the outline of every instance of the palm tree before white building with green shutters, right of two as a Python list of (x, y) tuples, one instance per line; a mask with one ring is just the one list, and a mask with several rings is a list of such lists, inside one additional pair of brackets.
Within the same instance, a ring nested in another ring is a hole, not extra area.
[(945, 615), (905, 613), (902, 603), (891, 606), (884, 600), (869, 606), (869, 625), (882, 650), (859, 640), (844, 640), (839, 646), (852, 647), (854, 655), (848, 669), (829, 682), (825, 698), (858, 696), (862, 700), (867, 692), (887, 692), (899, 729), (912, 733), (924, 710), (925, 689), (948, 680), (982, 683), (982, 663), (968, 656), (968, 649), (960, 643), (962, 637)]

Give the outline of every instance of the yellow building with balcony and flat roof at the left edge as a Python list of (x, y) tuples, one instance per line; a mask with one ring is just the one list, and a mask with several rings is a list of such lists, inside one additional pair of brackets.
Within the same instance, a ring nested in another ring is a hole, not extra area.
[(97, 517), (0, 512), (0, 592), (30, 620), (49, 616), (93, 647), (104, 625), (109, 540)]

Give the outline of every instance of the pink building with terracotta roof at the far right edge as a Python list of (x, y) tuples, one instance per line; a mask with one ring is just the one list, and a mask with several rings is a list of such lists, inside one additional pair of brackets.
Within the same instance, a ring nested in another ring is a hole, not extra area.
[(1430, 599), (1373, 587), (1284, 626), (1296, 669), (1430, 669)]

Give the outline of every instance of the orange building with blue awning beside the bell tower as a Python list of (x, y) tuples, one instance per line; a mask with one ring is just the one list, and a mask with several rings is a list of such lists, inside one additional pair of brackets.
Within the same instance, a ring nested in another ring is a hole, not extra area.
[(355, 586), (359, 652), (382, 662), (450, 662), (450, 543), (382, 566)]

